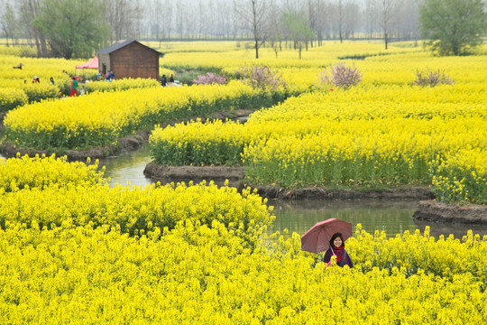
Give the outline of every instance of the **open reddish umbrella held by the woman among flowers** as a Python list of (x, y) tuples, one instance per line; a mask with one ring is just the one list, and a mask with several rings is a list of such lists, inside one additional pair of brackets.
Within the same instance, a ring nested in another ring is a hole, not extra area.
[(326, 251), (330, 247), (330, 239), (335, 233), (341, 233), (345, 241), (352, 237), (352, 224), (337, 218), (317, 222), (301, 237), (301, 250), (311, 253)]

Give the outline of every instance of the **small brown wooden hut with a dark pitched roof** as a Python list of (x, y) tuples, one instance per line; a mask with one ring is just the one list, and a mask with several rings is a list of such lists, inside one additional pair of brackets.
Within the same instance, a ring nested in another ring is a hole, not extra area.
[(97, 51), (98, 69), (106, 75), (113, 71), (116, 79), (159, 79), (159, 51), (134, 40), (120, 41)]

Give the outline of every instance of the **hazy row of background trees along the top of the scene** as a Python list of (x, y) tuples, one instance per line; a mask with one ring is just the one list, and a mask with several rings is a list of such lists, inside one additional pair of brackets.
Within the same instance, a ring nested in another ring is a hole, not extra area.
[[(26, 38), (39, 56), (88, 56), (126, 38), (253, 40), (255, 57), (267, 44), (276, 56), (291, 44), (299, 56), (324, 40), (437, 40), (453, 33), (469, 46), (485, 32), (482, 0), (0, 0), (0, 27), (11, 43)], [(440, 15), (438, 17), (438, 15)], [(465, 27), (466, 24), (469, 27)], [(455, 27), (451, 25), (455, 24)], [(421, 34), (422, 28), (423, 33)], [(451, 28), (450, 28), (451, 27)], [(463, 32), (468, 30), (469, 36)], [(446, 32), (447, 31), (447, 32)], [(462, 34), (462, 35), (461, 35)], [(445, 36), (445, 35), (443, 35)], [(472, 41), (473, 39), (473, 41)], [(290, 41), (290, 42), (289, 42)], [(283, 45), (284, 42), (284, 45)]]

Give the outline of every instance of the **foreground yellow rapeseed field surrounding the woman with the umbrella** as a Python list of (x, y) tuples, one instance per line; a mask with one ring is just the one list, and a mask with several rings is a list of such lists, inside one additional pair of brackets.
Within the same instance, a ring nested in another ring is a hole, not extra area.
[(271, 210), (250, 190), (111, 189), (94, 166), (0, 161), (1, 323), (487, 320), (487, 237), (472, 231), (388, 238), (357, 225), (354, 268), (325, 268), (299, 234), (266, 235)]

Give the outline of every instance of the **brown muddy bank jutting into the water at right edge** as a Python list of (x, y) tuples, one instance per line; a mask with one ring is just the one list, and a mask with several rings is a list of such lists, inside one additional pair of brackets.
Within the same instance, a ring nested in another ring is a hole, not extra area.
[(487, 225), (487, 206), (469, 204), (458, 207), (435, 200), (422, 200), (413, 218), (430, 222)]

